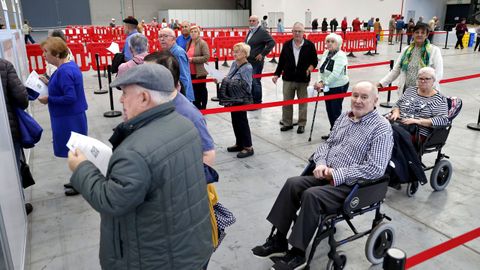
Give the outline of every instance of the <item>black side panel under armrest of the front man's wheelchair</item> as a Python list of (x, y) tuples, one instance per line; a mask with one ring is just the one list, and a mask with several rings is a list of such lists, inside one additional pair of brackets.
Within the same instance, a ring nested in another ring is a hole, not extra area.
[(385, 174), (377, 179), (357, 181), (343, 203), (344, 214), (351, 218), (353, 211), (382, 201), (387, 194), (389, 180), (390, 177)]

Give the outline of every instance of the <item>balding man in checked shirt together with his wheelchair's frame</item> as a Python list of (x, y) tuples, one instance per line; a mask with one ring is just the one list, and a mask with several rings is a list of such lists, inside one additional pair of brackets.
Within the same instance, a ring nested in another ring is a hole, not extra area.
[[(342, 220), (347, 220), (355, 234), (358, 234), (349, 221), (351, 209), (345, 208), (356, 208), (359, 201), (368, 200), (369, 196), (376, 197), (375, 191), (370, 190), (369, 192), (373, 193), (366, 194), (364, 198), (350, 198), (349, 205), (344, 205), (345, 200), (359, 188), (357, 182), (360, 179), (364, 182), (361, 186), (365, 183), (368, 186), (368, 183), (374, 183), (384, 175), (393, 147), (391, 125), (377, 112), (377, 101), (378, 90), (372, 83), (356, 84), (352, 90), (351, 110), (337, 119), (330, 138), (315, 151), (313, 175), (291, 177), (286, 181), (267, 217), (273, 224), (272, 233), (265, 244), (252, 249), (257, 257), (271, 258), (280, 255), (274, 260), (272, 269), (303, 269), (307, 266), (305, 251), (317, 228), (317, 237), (308, 263), (313, 256), (315, 245), (329, 236), (329, 258), (333, 262), (332, 267), (343, 267), (346, 257), (336, 253), (335, 248), (339, 244), (333, 239), (334, 223), (337, 221), (335, 217), (339, 214)], [(381, 201), (385, 196), (387, 183), (384, 180), (378, 182), (382, 184), (380, 193), (383, 194), (377, 198)], [(375, 226), (385, 216), (379, 213), (379, 205), (369, 210), (373, 209), (377, 209), (376, 221), (373, 224)], [(325, 222), (327, 216), (330, 218)], [(293, 221), (295, 222), (287, 241)], [(322, 231), (327, 229), (329, 233), (322, 235)], [(360, 233), (356, 238), (371, 231)], [(291, 249), (288, 249), (288, 243), (292, 246)]]

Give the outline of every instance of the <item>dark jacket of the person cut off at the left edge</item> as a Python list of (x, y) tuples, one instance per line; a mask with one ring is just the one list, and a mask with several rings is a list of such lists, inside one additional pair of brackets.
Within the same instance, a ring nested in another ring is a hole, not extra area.
[(12, 132), (13, 141), (20, 141), (17, 114), (15, 107), (25, 110), (28, 107), (27, 89), (18, 78), (12, 63), (0, 58), (0, 75), (2, 77), (3, 94), (7, 106), (8, 121)]

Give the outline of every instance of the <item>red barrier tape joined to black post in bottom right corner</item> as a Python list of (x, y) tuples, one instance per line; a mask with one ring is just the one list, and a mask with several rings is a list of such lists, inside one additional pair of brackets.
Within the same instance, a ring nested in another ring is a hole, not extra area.
[(441, 243), (440, 245), (434, 246), (432, 248), (429, 248), (425, 251), (422, 251), (410, 258), (407, 259), (407, 263), (405, 265), (405, 268), (411, 268), (414, 267), (417, 264), (420, 264), (426, 260), (429, 260), (435, 256), (438, 256), (444, 252), (447, 252), (453, 248), (456, 248), (460, 245), (463, 245), (467, 243), (468, 241), (471, 241), (475, 238), (480, 237), (480, 227), (467, 232), (465, 234), (462, 234), (460, 236), (457, 236), (455, 238), (452, 238), (448, 240), (447, 242)]

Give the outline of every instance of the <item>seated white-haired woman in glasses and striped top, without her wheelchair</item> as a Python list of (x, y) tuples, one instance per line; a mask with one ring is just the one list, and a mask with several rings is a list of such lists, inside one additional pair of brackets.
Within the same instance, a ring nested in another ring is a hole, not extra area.
[(432, 132), (432, 127), (450, 123), (447, 99), (433, 87), (435, 81), (433, 68), (421, 68), (417, 86), (407, 88), (387, 116), (391, 121), (402, 124), (412, 134), (413, 141), (423, 142)]

